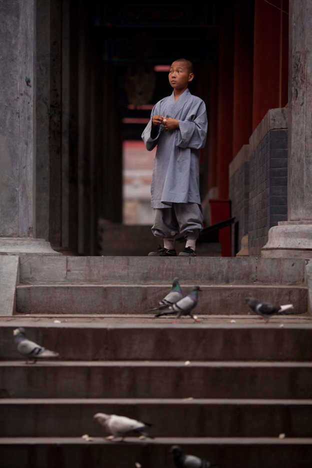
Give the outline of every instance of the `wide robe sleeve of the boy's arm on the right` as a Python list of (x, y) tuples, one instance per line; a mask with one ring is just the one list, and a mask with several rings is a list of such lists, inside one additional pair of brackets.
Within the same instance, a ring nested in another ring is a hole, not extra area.
[(178, 122), (176, 145), (180, 148), (203, 148), (207, 136), (207, 113), (204, 102), (201, 101), (194, 120), (179, 120)]

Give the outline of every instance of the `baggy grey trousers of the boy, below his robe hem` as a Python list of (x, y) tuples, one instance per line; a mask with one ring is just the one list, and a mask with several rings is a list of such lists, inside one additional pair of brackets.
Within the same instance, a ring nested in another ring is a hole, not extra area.
[(187, 239), (197, 239), (202, 229), (202, 212), (198, 203), (172, 203), (168, 208), (154, 208), (151, 231), (159, 237), (183, 234)]

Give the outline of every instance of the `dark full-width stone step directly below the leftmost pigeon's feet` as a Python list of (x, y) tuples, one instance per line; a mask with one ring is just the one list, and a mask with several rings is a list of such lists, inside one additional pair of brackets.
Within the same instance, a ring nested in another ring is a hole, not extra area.
[(9, 398), (310, 398), (311, 362), (0, 362)]

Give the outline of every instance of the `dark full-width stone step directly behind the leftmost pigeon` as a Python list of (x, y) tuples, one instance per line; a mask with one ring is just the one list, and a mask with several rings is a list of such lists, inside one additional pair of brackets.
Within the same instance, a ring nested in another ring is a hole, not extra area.
[(29, 323), (13, 317), (11, 321), (0, 321), (2, 360), (23, 359), (12, 332), (24, 326), (29, 339), (56, 350), (63, 360), (312, 361), (312, 323), (307, 318), (301, 323), (287, 323), (289, 315), (273, 318), (268, 324), (260, 318), (252, 319), (256, 323), (230, 323), (229, 316), (221, 323), (208, 319), (205, 323), (203, 318), (194, 324), (189, 319), (177, 324), (172, 319), (150, 319), (152, 324), (141, 324), (129, 318), (124, 324), (118, 323), (122, 318), (111, 317), (97, 318), (100, 322), (95, 323), (85, 319), (77, 323), (37, 320)]

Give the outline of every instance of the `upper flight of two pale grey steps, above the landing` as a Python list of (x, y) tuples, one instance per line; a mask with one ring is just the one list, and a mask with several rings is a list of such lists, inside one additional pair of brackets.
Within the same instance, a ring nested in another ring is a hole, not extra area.
[(200, 284), (196, 312), (247, 314), (244, 297), (307, 310), (305, 261), (256, 257), (20, 257), (18, 314), (145, 314), (178, 276)]

